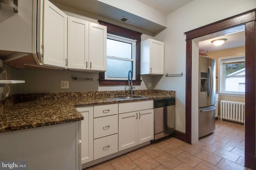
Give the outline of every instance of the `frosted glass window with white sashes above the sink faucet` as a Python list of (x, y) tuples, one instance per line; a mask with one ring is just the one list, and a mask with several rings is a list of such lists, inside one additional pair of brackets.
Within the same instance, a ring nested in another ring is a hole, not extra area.
[(107, 35), (107, 71), (105, 79), (127, 80), (129, 70), (135, 76), (136, 40)]

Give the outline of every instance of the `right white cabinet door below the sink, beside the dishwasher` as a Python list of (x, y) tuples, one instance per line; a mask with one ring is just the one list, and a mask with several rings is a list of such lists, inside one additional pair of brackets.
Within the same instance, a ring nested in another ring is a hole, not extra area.
[(154, 139), (154, 109), (138, 112), (138, 144)]

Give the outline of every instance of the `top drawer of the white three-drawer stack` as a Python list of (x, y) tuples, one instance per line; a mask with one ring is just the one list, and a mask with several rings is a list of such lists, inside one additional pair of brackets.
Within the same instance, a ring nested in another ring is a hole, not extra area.
[(118, 113), (118, 104), (106, 104), (94, 106), (94, 117), (116, 115)]

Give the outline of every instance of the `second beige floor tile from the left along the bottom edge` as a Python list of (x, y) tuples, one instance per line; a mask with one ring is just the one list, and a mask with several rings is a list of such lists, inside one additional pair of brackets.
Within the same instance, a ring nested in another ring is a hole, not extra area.
[(137, 167), (137, 165), (127, 156), (112, 161), (110, 164), (114, 167), (115, 170), (132, 170)]

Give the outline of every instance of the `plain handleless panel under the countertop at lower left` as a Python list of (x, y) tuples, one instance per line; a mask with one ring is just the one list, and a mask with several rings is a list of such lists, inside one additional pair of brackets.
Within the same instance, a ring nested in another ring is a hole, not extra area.
[(0, 160), (28, 161), (29, 170), (81, 170), (77, 124), (70, 122), (0, 133)]

